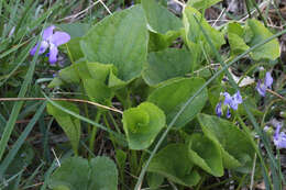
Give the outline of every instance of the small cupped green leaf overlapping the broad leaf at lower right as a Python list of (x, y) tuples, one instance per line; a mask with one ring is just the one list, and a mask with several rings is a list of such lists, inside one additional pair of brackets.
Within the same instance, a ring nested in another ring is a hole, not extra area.
[(220, 147), (201, 134), (193, 134), (189, 139), (189, 157), (205, 171), (221, 177), (223, 175)]

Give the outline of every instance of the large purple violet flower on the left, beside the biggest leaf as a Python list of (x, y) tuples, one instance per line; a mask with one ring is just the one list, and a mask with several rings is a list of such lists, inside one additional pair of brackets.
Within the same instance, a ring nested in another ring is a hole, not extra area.
[(36, 49), (40, 45), (38, 55), (44, 54), (47, 48), (50, 48), (48, 53), (48, 62), (54, 65), (57, 62), (57, 47), (62, 44), (67, 43), (70, 40), (70, 36), (66, 32), (55, 32), (54, 25), (46, 27), (43, 32), (42, 42), (36, 44), (30, 52), (31, 55), (35, 55)]

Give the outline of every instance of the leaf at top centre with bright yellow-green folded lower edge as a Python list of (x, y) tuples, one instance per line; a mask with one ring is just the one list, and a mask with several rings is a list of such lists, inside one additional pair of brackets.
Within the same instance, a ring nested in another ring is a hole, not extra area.
[(148, 23), (148, 49), (153, 52), (168, 47), (180, 35), (180, 19), (155, 0), (143, 0), (141, 3)]

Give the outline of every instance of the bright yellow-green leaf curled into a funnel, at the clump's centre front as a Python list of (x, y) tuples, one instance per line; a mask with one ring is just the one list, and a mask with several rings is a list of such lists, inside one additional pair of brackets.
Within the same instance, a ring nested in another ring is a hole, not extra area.
[(164, 112), (150, 102), (123, 112), (123, 128), (131, 149), (145, 149), (165, 126)]

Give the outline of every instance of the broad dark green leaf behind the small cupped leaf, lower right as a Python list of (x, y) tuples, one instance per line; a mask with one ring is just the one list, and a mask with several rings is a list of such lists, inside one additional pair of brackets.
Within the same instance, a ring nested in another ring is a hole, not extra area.
[(218, 116), (199, 114), (198, 119), (205, 135), (220, 144), (224, 167), (251, 171), (255, 149), (248, 136), (238, 126)]

